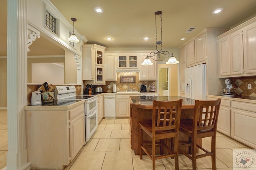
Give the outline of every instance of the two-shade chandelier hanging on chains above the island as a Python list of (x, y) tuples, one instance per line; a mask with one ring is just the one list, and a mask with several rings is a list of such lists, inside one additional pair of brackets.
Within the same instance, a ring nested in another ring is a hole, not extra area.
[[(150, 61), (150, 59), (154, 61), (164, 61), (168, 57), (168, 61), (166, 64), (177, 64), (179, 63), (176, 58), (173, 56), (173, 54), (170, 54), (168, 51), (162, 51), (162, 11), (157, 11), (155, 12), (155, 24), (156, 24), (156, 15), (160, 15), (160, 25), (161, 25), (161, 34), (160, 34), (160, 41), (157, 41), (157, 27), (156, 27), (156, 51), (153, 51), (150, 53), (150, 55), (147, 55), (147, 57), (144, 59), (143, 63), (141, 65), (144, 66), (150, 66), (153, 63)], [(165, 55), (166, 57), (164, 59), (160, 59), (160, 55)], [(156, 57), (155, 57), (156, 56)], [(156, 58), (156, 59), (154, 59)]]

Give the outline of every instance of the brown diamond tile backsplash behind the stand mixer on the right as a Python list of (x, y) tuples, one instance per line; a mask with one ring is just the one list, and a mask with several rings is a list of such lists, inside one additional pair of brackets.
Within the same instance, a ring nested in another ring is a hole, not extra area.
[[(232, 78), (233, 87), (236, 89), (235, 94), (238, 96), (256, 97), (256, 76)], [(252, 85), (248, 89), (248, 84)]]

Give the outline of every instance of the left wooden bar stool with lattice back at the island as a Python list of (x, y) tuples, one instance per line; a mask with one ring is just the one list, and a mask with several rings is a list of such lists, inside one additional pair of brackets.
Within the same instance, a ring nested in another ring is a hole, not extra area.
[[(154, 100), (152, 120), (140, 121), (140, 159), (142, 159), (142, 152), (144, 150), (153, 162), (153, 170), (156, 169), (156, 159), (167, 157), (174, 157), (175, 170), (179, 169), (178, 146), (181, 107), (182, 99), (176, 101)], [(152, 138), (152, 145), (142, 145), (143, 131)], [(168, 138), (174, 139), (174, 147), (169, 148), (164, 143), (164, 139)], [(156, 140), (160, 140), (160, 144), (156, 144)], [(160, 156), (156, 156), (156, 147), (160, 147)], [(167, 154), (164, 154), (164, 147), (168, 151)], [(151, 149), (152, 154), (150, 153)]]

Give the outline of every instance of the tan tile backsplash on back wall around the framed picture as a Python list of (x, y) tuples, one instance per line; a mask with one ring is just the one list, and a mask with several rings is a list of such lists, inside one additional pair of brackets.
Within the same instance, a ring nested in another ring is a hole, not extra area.
[[(125, 92), (128, 91), (128, 86), (130, 90), (140, 91), (140, 84), (156, 84), (156, 81), (139, 81), (139, 73), (138, 72), (117, 72), (117, 81), (106, 81), (106, 85), (98, 85), (97, 87), (102, 87), (103, 92), (111, 93), (113, 92), (113, 85), (116, 84), (116, 92)], [(135, 82), (121, 82), (121, 76), (135, 76)], [(110, 88), (108, 88), (110, 85)], [(150, 90), (148, 87), (146, 90)]]

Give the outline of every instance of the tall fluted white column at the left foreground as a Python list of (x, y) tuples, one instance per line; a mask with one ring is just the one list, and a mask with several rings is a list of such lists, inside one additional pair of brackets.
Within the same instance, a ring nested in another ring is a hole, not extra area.
[(7, 3), (7, 170), (29, 170), (25, 112), (27, 105), (27, 0)]

